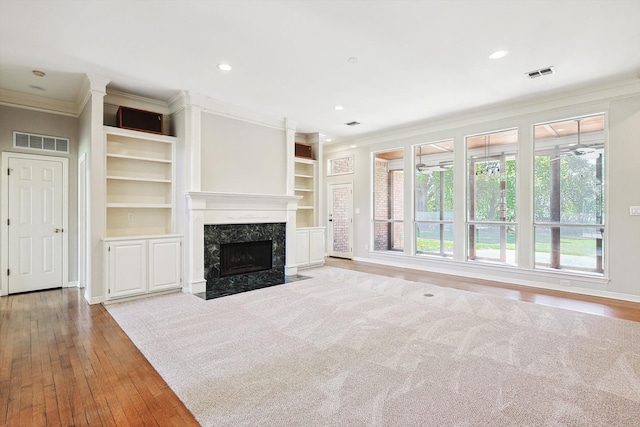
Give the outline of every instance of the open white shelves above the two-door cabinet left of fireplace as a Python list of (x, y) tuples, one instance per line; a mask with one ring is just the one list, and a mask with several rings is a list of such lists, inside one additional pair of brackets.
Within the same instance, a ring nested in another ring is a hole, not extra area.
[(106, 237), (173, 232), (176, 138), (105, 126)]

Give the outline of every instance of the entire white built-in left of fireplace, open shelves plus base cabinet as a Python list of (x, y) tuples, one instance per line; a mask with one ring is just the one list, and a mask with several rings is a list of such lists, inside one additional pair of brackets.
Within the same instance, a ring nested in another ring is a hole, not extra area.
[(107, 299), (181, 286), (182, 237), (172, 234), (176, 140), (105, 126)]

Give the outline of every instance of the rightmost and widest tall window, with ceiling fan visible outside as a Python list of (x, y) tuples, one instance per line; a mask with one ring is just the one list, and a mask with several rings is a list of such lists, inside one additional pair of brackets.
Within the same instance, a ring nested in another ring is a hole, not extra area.
[(604, 273), (604, 115), (534, 126), (535, 266)]

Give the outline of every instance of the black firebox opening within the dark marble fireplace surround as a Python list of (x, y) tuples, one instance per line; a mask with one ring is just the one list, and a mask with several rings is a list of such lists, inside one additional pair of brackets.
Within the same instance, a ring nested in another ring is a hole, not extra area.
[(220, 245), (220, 277), (271, 270), (271, 240)]

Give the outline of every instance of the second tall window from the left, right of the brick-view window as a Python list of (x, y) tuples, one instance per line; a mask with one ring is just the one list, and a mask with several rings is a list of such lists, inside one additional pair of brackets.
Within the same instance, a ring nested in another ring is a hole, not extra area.
[(416, 254), (453, 256), (453, 140), (415, 147)]

